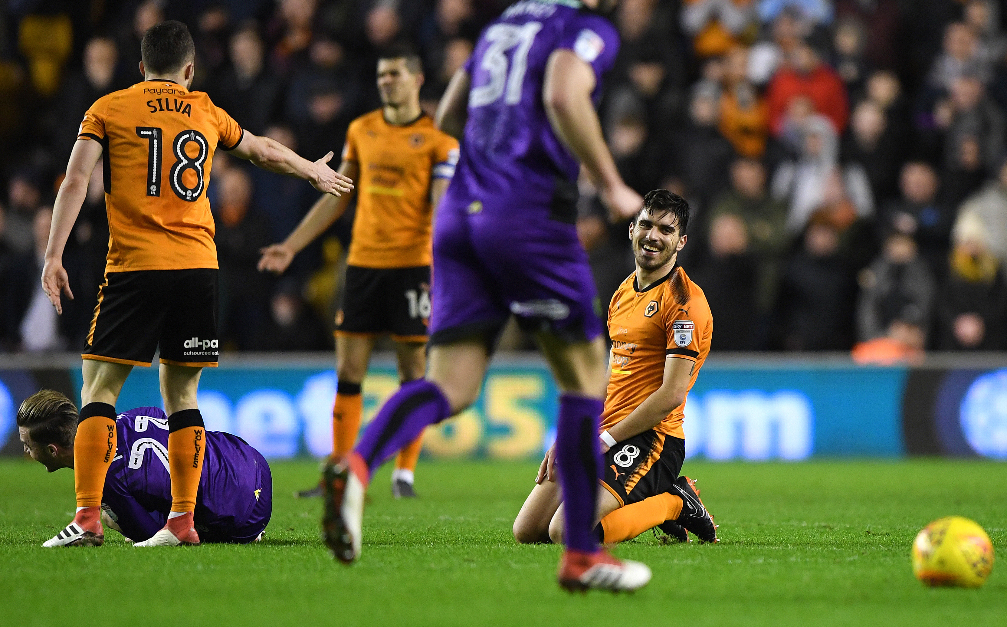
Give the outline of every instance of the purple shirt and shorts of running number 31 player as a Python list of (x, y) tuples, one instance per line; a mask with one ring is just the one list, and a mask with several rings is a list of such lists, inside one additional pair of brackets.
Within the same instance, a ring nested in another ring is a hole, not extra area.
[(572, 50), (601, 75), (619, 42), (579, 2), (526, 0), (479, 38), (465, 69), (468, 119), (455, 175), (434, 224), (432, 344), (483, 334), (512, 314), (569, 339), (601, 334), (587, 254), (577, 240), (579, 164), (542, 104), (546, 64)]

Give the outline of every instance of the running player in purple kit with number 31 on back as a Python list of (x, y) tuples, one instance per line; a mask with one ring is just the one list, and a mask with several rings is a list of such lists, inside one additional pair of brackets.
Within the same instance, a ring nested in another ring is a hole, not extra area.
[(429, 367), (385, 404), (349, 455), (322, 471), (322, 533), (342, 562), (359, 556), (364, 492), (375, 469), (475, 401), (514, 315), (536, 337), (562, 393), (560, 585), (634, 590), (651, 579), (642, 564), (600, 551), (592, 533), (606, 348), (574, 226), (578, 164), (613, 214), (629, 217), (642, 203), (619, 177), (594, 111), (619, 45), (599, 11), (616, 2), (518, 2), (482, 32), (441, 100), (437, 124), (461, 138), (461, 155), (434, 225)]

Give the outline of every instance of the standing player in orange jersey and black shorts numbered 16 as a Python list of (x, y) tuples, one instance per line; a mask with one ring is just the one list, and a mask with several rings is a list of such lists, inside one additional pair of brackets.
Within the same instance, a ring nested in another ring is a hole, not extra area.
[[(420, 109), (419, 56), (390, 51), (378, 60), (382, 108), (354, 120), (346, 133), (339, 172), (357, 179), (356, 216), (346, 260), (346, 281), (336, 314), (338, 383), (332, 409), (332, 451), (349, 452), (361, 428), (361, 383), (375, 339), (391, 334), (402, 382), (426, 372), (430, 317), (433, 210), (454, 174), (458, 142), (439, 131)], [(322, 196), (282, 244), (263, 251), (260, 270), (282, 273), (294, 256), (320, 236), (349, 204)], [(413, 489), (421, 435), (399, 452), (392, 492)], [(318, 496), (320, 488), (300, 496)]]

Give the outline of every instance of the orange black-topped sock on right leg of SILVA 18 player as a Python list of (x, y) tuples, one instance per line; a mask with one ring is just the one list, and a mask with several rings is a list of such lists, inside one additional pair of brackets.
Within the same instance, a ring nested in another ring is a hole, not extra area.
[(199, 410), (182, 410), (168, 417), (168, 470), (171, 472), (171, 511), (192, 513), (199, 492), (206, 430)]

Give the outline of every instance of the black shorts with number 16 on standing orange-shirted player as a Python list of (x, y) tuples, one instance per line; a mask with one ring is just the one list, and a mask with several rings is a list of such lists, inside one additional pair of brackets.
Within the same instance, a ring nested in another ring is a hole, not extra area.
[(336, 335), (386, 335), (400, 342), (427, 341), (430, 266), (346, 267)]

